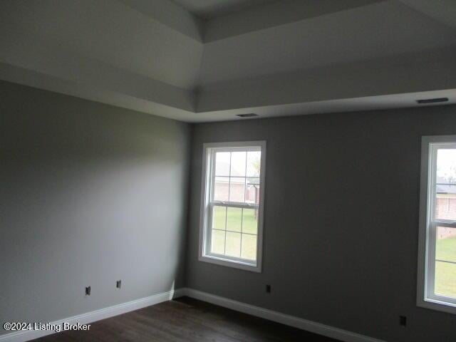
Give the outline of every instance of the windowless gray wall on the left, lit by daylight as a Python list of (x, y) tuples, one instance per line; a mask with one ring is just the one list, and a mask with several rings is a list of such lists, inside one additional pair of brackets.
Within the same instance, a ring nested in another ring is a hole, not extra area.
[(190, 126), (13, 83), (0, 98), (0, 321), (183, 286)]

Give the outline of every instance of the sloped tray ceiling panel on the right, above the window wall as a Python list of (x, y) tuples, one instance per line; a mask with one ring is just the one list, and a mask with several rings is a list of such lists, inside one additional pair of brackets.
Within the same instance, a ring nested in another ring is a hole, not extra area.
[(199, 81), (204, 86), (455, 44), (454, 28), (399, 1), (378, 1), (206, 43)]

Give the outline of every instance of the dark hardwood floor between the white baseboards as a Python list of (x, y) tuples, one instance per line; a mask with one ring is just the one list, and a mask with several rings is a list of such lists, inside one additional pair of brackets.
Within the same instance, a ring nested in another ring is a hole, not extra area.
[(92, 323), (89, 331), (63, 331), (35, 341), (335, 342), (336, 340), (183, 297)]

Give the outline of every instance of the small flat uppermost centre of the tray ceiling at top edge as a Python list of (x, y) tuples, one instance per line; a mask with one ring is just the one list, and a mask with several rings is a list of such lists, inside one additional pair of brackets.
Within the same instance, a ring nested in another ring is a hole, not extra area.
[(235, 11), (278, 0), (173, 0), (175, 3), (204, 19), (212, 19)]

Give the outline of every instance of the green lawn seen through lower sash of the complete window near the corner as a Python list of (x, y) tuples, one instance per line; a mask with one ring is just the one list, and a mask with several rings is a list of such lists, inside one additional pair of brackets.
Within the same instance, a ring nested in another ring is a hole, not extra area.
[(257, 258), (255, 209), (214, 206), (212, 220), (213, 253), (250, 260)]

